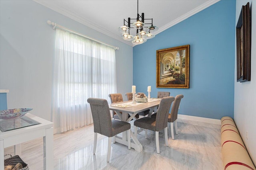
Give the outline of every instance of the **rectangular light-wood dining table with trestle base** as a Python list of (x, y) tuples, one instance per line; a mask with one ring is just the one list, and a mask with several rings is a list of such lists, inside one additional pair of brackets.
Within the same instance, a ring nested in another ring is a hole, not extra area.
[[(152, 112), (156, 111), (157, 107), (160, 104), (160, 101), (161, 99), (159, 98), (150, 98), (148, 99), (148, 102), (145, 103), (132, 101), (118, 102), (109, 104), (109, 109), (113, 110), (118, 115), (120, 120), (130, 122), (132, 119), (136, 119), (136, 114), (141, 111), (146, 111), (148, 109), (150, 109), (148, 113), (148, 117), (150, 117), (152, 115)], [(130, 117), (128, 117), (128, 115), (130, 115)], [(134, 150), (141, 152), (142, 145), (132, 131), (131, 139), (131, 148), (134, 148)], [(116, 136), (113, 142), (118, 142), (128, 146), (127, 131), (122, 133), (122, 137)]]

